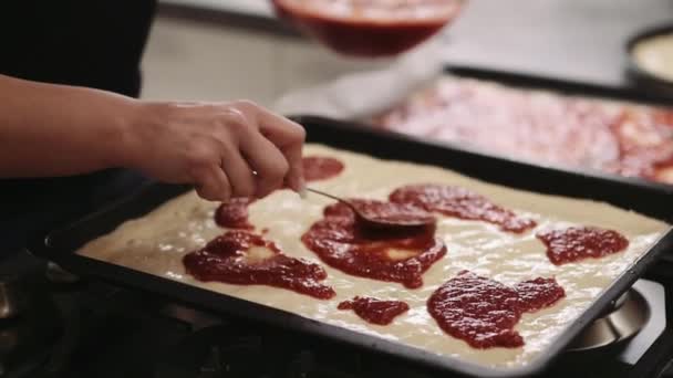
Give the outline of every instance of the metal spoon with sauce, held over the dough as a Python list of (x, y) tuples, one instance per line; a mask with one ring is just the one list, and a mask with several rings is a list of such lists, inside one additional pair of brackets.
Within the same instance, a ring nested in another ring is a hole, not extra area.
[(434, 224), (436, 222), (436, 219), (431, 214), (420, 213), (418, 211), (410, 211), (408, 208), (402, 206), (400, 206), (398, 213), (394, 213), (392, 216), (389, 214), (387, 217), (385, 214), (366, 213), (362, 209), (359, 209), (355, 203), (349, 200), (344, 200), (322, 190), (312, 188), (306, 188), (306, 190), (319, 196), (331, 198), (348, 206), (353, 211), (355, 214), (355, 220), (360, 222), (361, 225), (372, 229), (417, 229)]

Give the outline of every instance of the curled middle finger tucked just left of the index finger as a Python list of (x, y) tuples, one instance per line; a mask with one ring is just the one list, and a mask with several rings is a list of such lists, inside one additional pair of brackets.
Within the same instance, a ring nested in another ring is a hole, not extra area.
[(240, 141), (241, 153), (257, 172), (258, 198), (263, 198), (282, 187), (289, 165), (282, 153), (259, 133), (251, 133)]

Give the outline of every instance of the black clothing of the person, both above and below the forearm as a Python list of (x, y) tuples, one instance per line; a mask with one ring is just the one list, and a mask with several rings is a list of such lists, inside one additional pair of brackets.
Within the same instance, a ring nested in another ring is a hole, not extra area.
[[(155, 0), (3, 3), (0, 74), (138, 96), (155, 7)], [(91, 212), (141, 181), (121, 170), (0, 180), (0, 248), (21, 246), (27, 235)]]

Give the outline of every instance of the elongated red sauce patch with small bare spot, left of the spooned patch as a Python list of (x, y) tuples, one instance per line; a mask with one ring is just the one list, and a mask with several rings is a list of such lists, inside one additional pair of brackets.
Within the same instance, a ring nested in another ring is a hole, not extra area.
[[(252, 260), (253, 246), (266, 248), (271, 256)], [(335, 295), (332, 287), (319, 281), (327, 272), (318, 264), (282, 253), (271, 241), (246, 231), (229, 231), (205, 248), (183, 259), (187, 273), (199, 281), (217, 281), (236, 285), (269, 285), (294, 291), (320, 300)]]

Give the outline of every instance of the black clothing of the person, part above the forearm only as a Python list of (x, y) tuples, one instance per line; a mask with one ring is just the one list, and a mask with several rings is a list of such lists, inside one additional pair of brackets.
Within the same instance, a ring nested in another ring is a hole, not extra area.
[(11, 25), (0, 36), (0, 72), (137, 96), (154, 8), (153, 0), (10, 1), (0, 9)]

